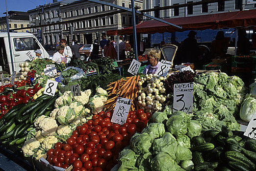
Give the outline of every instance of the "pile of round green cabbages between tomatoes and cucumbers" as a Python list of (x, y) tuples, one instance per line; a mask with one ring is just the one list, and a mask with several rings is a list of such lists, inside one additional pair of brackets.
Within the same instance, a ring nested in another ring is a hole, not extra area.
[(118, 171), (188, 171), (192, 168), (190, 139), (201, 134), (200, 123), (181, 111), (155, 112), (149, 123), (142, 133), (132, 136), (129, 148), (120, 152)]

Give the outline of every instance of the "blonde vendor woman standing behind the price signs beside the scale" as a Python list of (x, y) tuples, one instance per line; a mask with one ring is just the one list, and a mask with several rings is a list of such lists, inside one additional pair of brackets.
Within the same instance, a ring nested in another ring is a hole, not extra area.
[(143, 71), (143, 74), (155, 74), (160, 62), (160, 51), (158, 50), (151, 50), (148, 52), (147, 57), (149, 60), (149, 65), (146, 66), (146, 68)]

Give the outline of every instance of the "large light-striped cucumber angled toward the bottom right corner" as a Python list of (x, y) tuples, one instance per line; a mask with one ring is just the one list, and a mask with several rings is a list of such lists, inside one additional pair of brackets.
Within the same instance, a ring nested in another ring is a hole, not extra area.
[(244, 154), (237, 151), (226, 151), (225, 157), (230, 161), (239, 163), (240, 165), (244, 165), (244, 167), (248, 166), (248, 169), (255, 170), (255, 164), (251, 162)]

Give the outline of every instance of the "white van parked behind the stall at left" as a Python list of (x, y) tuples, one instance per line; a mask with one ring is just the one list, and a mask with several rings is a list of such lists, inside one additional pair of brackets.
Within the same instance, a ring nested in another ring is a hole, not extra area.
[[(42, 51), (43, 58), (49, 58), (49, 54), (36, 39), (33, 34), (30, 33), (10, 33), (12, 58), (14, 63), (14, 69), (16, 72), (20, 71), (19, 64), (27, 60), (31, 61), (35, 55), (35, 51), (40, 49)], [(7, 32), (0, 32), (0, 66), (3, 71), (12, 74), (12, 64), (9, 49), (9, 41)]]

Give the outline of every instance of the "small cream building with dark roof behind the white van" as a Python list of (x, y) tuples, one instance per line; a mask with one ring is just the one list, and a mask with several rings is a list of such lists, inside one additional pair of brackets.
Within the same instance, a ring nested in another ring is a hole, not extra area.
[[(6, 14), (6, 13), (3, 13)], [(23, 28), (28, 27), (29, 22), (29, 15), (27, 12), (21, 12), (21, 11), (8, 11), (9, 16), (9, 28)], [(7, 30), (6, 26), (6, 17), (0, 18), (0, 30)], [(17, 32), (26, 32), (30, 31), (30, 29), (23, 29), (23, 30), (17, 30)]]

